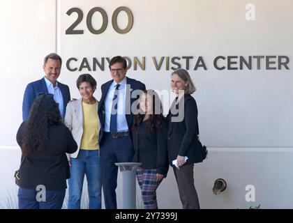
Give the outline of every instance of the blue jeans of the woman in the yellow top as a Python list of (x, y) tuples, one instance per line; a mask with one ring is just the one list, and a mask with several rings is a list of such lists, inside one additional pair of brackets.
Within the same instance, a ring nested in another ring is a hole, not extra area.
[(80, 209), (84, 174), (87, 176), (89, 209), (101, 209), (102, 184), (100, 181), (99, 150), (80, 149), (77, 158), (71, 158), (70, 178), (68, 179), (68, 209)]

